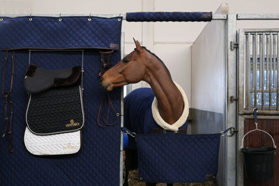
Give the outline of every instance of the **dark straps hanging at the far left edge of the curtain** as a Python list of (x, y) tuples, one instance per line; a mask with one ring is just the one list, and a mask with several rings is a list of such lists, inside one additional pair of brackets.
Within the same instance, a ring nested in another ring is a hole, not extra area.
[[(10, 79), (10, 92), (4, 91), (5, 89), (5, 73), (6, 73), (6, 66), (8, 63), (8, 51), (6, 52), (5, 56), (5, 65), (4, 65), (4, 70), (3, 70), (3, 84), (2, 84), (2, 94), (5, 99), (5, 111), (4, 111), (4, 121), (5, 121), (5, 127), (3, 129), (2, 137), (5, 137), (7, 130), (9, 134), (9, 152), (13, 153), (13, 147), (12, 147), (12, 119), (13, 119), (13, 104), (12, 100), (10, 100), (10, 94), (12, 93), (13, 90), (13, 77), (15, 74), (15, 51), (13, 51), (13, 65), (12, 65), (12, 77)], [(10, 119), (8, 118), (8, 104), (10, 105)]]

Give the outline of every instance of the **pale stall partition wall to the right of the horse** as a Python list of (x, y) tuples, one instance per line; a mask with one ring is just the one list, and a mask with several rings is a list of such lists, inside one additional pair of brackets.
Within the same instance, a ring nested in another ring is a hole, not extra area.
[[(226, 127), (226, 20), (211, 21), (192, 45), (192, 134), (218, 133)], [(217, 182), (225, 184), (225, 137), (220, 139)]]

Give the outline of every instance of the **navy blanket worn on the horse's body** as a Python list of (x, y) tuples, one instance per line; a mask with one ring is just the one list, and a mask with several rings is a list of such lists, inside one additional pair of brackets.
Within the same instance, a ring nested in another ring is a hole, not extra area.
[[(124, 126), (136, 134), (152, 134), (160, 127), (152, 116), (154, 93), (151, 88), (137, 88), (124, 98)], [(179, 128), (187, 129), (188, 120)], [(129, 137), (128, 148), (136, 148), (135, 138)]]

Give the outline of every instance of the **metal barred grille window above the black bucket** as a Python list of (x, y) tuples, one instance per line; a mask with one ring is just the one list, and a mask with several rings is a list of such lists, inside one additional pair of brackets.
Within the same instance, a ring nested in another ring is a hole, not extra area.
[(246, 109), (279, 110), (279, 31), (245, 31)]

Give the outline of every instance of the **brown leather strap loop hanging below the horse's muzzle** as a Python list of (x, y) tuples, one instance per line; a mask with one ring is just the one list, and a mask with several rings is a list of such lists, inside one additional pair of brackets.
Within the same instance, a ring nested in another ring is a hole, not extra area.
[[(102, 111), (102, 105), (103, 105), (103, 102), (104, 102), (104, 108), (103, 108), (103, 125), (100, 124), (100, 113)], [(108, 103), (107, 103), (108, 102)], [(106, 107), (107, 107), (107, 104), (108, 104), (108, 109), (107, 109), (107, 114), (105, 114), (105, 110), (106, 110)], [(114, 114), (116, 116), (116, 119), (114, 121), (114, 123), (108, 123), (109, 121), (109, 116), (110, 116), (110, 108), (112, 108), (112, 111), (114, 111)], [(110, 100), (110, 93), (107, 92), (103, 99), (101, 100), (100, 102), (100, 107), (99, 107), (99, 111), (98, 111), (98, 118), (97, 118), (97, 123), (100, 127), (104, 127), (105, 125), (109, 125), (109, 126), (112, 126), (112, 125), (115, 125), (118, 121), (118, 118), (119, 118), (119, 113), (116, 112), (116, 110), (114, 109), (113, 107), (113, 104), (112, 104), (112, 101)]]

